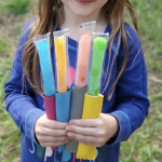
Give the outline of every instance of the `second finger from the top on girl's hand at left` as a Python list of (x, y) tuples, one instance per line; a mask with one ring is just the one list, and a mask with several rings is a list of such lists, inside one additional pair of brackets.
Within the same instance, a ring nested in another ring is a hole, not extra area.
[(51, 130), (49, 127), (42, 127), (42, 129), (36, 130), (36, 134), (58, 137), (58, 136), (67, 135), (67, 131), (66, 130)]

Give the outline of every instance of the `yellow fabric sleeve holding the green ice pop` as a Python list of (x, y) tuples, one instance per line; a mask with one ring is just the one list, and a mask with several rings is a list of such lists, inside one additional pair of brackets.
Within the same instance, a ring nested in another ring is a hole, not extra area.
[[(90, 96), (85, 94), (82, 119), (98, 118), (103, 107), (103, 95)], [(96, 147), (79, 143), (77, 159), (95, 160)]]

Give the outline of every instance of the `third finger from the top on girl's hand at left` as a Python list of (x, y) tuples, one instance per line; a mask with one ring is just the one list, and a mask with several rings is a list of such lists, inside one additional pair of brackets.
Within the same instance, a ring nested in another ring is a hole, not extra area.
[(68, 136), (62, 136), (62, 137), (53, 137), (53, 136), (37, 136), (38, 140), (41, 143), (58, 143), (58, 141), (65, 141), (69, 140)]

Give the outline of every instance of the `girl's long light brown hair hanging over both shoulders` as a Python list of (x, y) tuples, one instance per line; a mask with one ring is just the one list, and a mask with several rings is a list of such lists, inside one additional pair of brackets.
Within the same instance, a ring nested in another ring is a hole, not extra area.
[[(63, 3), (62, 1), (58, 1), (58, 0), (40, 0), (39, 1), (39, 18), (35, 21), (32, 24), (32, 29), (30, 31), (29, 39), (25, 44), (25, 49), (24, 49), (24, 53), (22, 57), (23, 75), (24, 77), (27, 78), (33, 91), (41, 96), (43, 95), (43, 87), (42, 87), (42, 82), (41, 82), (41, 76), (38, 70), (39, 56), (32, 43), (32, 38), (37, 35), (44, 35), (46, 32), (51, 32), (51, 42), (53, 42), (52, 33), (59, 26), (59, 10), (62, 6), (63, 6)], [(117, 75), (117, 79), (109, 90), (109, 95), (108, 95), (109, 99), (112, 96), (113, 90), (118, 83), (119, 78), (121, 77), (122, 72), (124, 71), (126, 67), (127, 59), (129, 59), (129, 44), (126, 40), (126, 29), (124, 28), (125, 8), (127, 8), (127, 11), (131, 14), (134, 28), (136, 29), (136, 31), (138, 31), (136, 14), (130, 0), (108, 0), (108, 2), (103, 6), (104, 15), (108, 19), (108, 23), (111, 28), (111, 35), (109, 38), (109, 53), (110, 54), (111, 54), (111, 49), (112, 49), (116, 35), (117, 32), (119, 32), (117, 52), (112, 58), (109, 77), (106, 82), (106, 86), (104, 91), (109, 85), (112, 66), (113, 66), (118, 50), (120, 48), (121, 40), (123, 40), (124, 49), (125, 49), (124, 60), (123, 60), (122, 67), (120, 68), (120, 71)], [(107, 76), (108, 76), (108, 69), (106, 72), (106, 77)]]

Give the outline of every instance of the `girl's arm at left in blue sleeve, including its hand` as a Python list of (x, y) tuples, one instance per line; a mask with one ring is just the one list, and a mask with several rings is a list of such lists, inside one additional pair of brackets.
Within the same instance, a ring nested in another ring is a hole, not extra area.
[(23, 85), (22, 54), (25, 46), (22, 48), (22, 45), (28, 40), (32, 22), (30, 21), (26, 25), (21, 35), (11, 77), (4, 86), (6, 110), (19, 131), (29, 139), (37, 144), (39, 141), (43, 147), (58, 146), (69, 140), (65, 131), (67, 123), (49, 120), (44, 114), (45, 111), (41, 110), (35, 102), (35, 92), (31, 90), (29, 82), (25, 80)]

